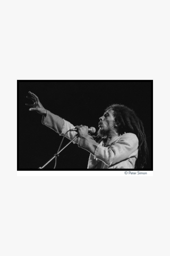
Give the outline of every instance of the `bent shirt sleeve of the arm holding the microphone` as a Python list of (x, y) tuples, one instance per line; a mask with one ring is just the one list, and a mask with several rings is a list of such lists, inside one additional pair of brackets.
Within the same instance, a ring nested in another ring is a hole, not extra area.
[(137, 157), (138, 138), (133, 133), (124, 134), (110, 147), (103, 147), (88, 134), (79, 140), (79, 147), (86, 149), (106, 165), (116, 164), (132, 156)]

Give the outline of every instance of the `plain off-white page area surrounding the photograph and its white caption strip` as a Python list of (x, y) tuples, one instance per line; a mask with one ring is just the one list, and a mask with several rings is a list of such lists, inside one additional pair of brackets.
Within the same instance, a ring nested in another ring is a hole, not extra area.
[[(1, 255), (169, 255), (168, 1), (0, 10)], [(153, 79), (154, 177), (17, 177), (17, 79)]]

